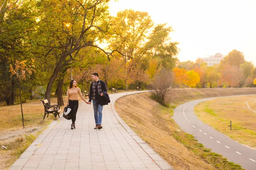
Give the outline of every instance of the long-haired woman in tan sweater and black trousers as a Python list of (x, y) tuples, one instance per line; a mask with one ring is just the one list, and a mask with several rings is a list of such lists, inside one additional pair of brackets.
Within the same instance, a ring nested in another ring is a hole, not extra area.
[(65, 107), (69, 104), (71, 107), (71, 120), (72, 120), (72, 124), (71, 124), (71, 129), (76, 128), (75, 126), (75, 122), (76, 122), (76, 112), (78, 109), (78, 95), (81, 97), (81, 99), (84, 100), (85, 103), (90, 104), (89, 102), (87, 102), (83, 95), (81, 94), (81, 90), (80, 88), (76, 87), (76, 80), (72, 79), (70, 80), (70, 86), (69, 89), (67, 90), (67, 102)]

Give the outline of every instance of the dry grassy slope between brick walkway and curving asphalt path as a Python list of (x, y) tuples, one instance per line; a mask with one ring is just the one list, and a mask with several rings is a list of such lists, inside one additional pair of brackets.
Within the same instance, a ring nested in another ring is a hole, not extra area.
[(173, 109), (184, 102), (215, 96), (256, 94), (256, 89), (172, 90), (171, 108), (149, 98), (150, 93), (124, 96), (116, 101), (122, 119), (176, 170), (241, 170), (241, 166), (212, 153), (172, 119)]

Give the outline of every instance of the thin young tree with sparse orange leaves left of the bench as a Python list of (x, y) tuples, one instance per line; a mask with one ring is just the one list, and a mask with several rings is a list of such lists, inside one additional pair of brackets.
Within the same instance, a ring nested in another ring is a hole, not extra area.
[(21, 108), (21, 115), (22, 115), (22, 125), (23, 125), (23, 129), (25, 128), (24, 125), (24, 118), (23, 118), (23, 110), (22, 110), (22, 100), (21, 100), (21, 81), (22, 80), (26, 80), (26, 76), (29, 77), (29, 75), (31, 75), (33, 73), (34, 68), (34, 60), (32, 59), (31, 63), (27, 63), (26, 60), (23, 60), (21, 62), (19, 62), (18, 60), (16, 60), (15, 65), (12, 66), (10, 65), (11, 69), (10, 72), (11, 77), (13, 75), (16, 75), (18, 82), (19, 82), (19, 90), (20, 90), (20, 108)]

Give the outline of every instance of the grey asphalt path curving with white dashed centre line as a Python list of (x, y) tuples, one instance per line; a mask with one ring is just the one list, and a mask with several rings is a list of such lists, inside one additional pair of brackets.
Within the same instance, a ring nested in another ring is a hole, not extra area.
[[(255, 95), (255, 94), (254, 94)], [(250, 96), (250, 95), (236, 95)], [(235, 96), (225, 96), (235, 97)], [(194, 114), (194, 106), (200, 102), (220, 97), (199, 99), (179, 105), (174, 110), (173, 119), (186, 133), (192, 134), (195, 139), (212, 149), (213, 152), (223, 155), (225, 158), (240, 164), (246, 170), (256, 170), (256, 150), (250, 149), (226, 135), (219, 133), (209, 125), (205, 125)]]

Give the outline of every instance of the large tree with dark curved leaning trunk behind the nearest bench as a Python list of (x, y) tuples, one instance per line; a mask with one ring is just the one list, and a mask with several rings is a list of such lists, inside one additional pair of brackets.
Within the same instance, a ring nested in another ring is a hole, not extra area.
[(36, 23), (37, 38), (33, 39), (33, 44), (36, 44), (35, 47), (41, 47), (37, 51), (41, 51), (47, 60), (54, 61), (45, 92), (49, 102), (52, 85), (58, 73), (79, 57), (82, 48), (95, 47), (107, 56), (112, 54), (96, 45), (96, 42), (102, 42), (108, 32), (108, 1), (46, 0), (38, 2), (40, 20)]

